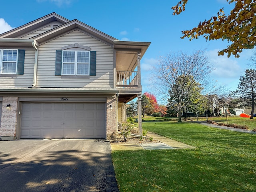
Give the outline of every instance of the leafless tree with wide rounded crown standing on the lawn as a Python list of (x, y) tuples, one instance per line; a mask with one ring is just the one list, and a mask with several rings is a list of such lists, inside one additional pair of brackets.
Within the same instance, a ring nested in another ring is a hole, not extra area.
[(201, 50), (193, 54), (178, 52), (160, 58), (153, 72), (156, 78), (155, 87), (177, 102), (179, 122), (181, 122), (182, 103), (189, 90), (197, 83), (204, 87), (212, 69), (208, 66), (208, 58), (204, 55), (204, 51)]

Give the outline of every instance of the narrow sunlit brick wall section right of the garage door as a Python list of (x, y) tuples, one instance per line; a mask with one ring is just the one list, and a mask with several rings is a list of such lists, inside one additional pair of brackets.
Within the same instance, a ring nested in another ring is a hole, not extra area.
[[(110, 108), (110, 105), (112, 105), (112, 109)], [(107, 140), (116, 139), (116, 110), (116, 96), (107, 98)]]

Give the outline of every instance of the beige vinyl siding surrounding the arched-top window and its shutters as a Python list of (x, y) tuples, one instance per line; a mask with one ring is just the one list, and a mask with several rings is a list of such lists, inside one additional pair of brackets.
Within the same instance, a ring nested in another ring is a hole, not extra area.
[[(64, 79), (55, 76), (56, 50), (78, 43), (96, 51), (96, 76), (89, 79)], [(37, 87), (113, 88), (113, 48), (74, 30), (39, 47)]]

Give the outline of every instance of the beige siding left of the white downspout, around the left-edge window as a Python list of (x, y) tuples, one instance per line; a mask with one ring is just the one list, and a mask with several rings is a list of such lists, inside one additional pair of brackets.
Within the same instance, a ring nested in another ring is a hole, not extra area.
[(0, 77), (0, 87), (31, 87), (34, 78), (35, 51), (25, 51), (24, 74), (16, 77)]

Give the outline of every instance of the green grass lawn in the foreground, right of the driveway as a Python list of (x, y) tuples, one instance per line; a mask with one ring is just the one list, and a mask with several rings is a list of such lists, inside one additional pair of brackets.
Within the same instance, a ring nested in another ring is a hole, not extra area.
[(196, 149), (113, 151), (120, 192), (256, 191), (256, 134), (194, 122), (150, 121), (142, 126)]

